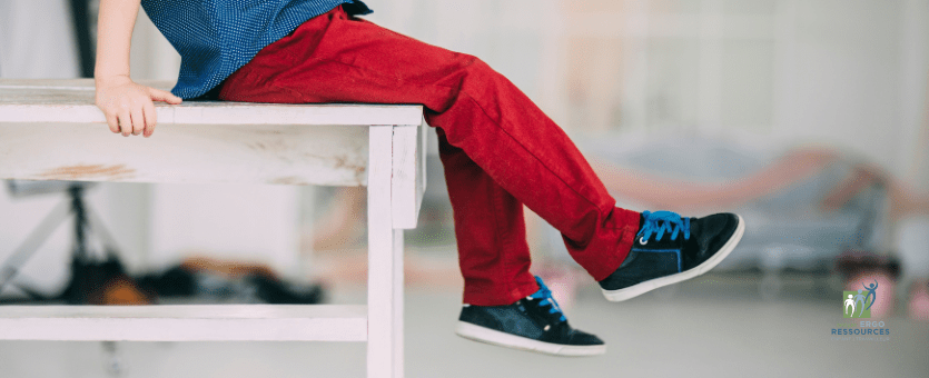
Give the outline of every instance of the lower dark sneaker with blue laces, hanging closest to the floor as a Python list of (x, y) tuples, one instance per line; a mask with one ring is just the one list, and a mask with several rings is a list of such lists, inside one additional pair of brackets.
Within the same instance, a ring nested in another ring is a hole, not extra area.
[(567, 325), (552, 291), (535, 277), (538, 291), (508, 306), (464, 305), (455, 332), (472, 340), (557, 356), (606, 352), (596, 336)]

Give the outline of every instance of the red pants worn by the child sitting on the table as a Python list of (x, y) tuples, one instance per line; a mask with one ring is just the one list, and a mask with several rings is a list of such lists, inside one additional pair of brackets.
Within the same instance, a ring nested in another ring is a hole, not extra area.
[(219, 98), (424, 105), (439, 138), (467, 304), (508, 305), (538, 289), (523, 203), (562, 232), (596, 280), (622, 263), (639, 228), (639, 212), (615, 207), (564, 131), (506, 78), (340, 7), (261, 50)]

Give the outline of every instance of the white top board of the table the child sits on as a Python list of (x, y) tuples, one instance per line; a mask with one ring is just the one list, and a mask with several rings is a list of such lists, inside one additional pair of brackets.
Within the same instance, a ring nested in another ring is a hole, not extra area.
[[(169, 90), (169, 81), (140, 83)], [(421, 105), (156, 102), (159, 123), (421, 125)], [(0, 79), (0, 122), (103, 122), (93, 79)]]

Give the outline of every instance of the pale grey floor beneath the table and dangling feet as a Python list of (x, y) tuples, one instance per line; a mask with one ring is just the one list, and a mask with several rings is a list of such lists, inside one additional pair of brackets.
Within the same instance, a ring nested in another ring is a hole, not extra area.
[[(929, 325), (884, 321), (890, 341), (832, 340), (839, 295), (807, 277), (761, 300), (757, 277), (715, 275), (627, 302), (585, 287), (569, 319), (607, 354), (557, 358), (486, 346), (453, 332), (458, 294), (407, 290), (408, 377), (929, 377)], [(840, 292), (840, 291), (838, 291)], [(338, 302), (360, 302), (359, 288)], [(901, 311), (897, 311), (898, 314)], [(121, 377), (362, 377), (363, 344), (119, 342)], [(107, 377), (100, 342), (0, 342), (0, 377)]]

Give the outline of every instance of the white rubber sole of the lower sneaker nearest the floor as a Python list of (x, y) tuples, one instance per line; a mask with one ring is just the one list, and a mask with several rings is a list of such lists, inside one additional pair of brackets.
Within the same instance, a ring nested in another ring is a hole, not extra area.
[(536, 351), (554, 356), (596, 356), (606, 352), (606, 345), (596, 346), (565, 346), (538, 341), (501, 332), (498, 330), (475, 326), (466, 321), (458, 321), (455, 334), (466, 339), (492, 344), (513, 349)]

